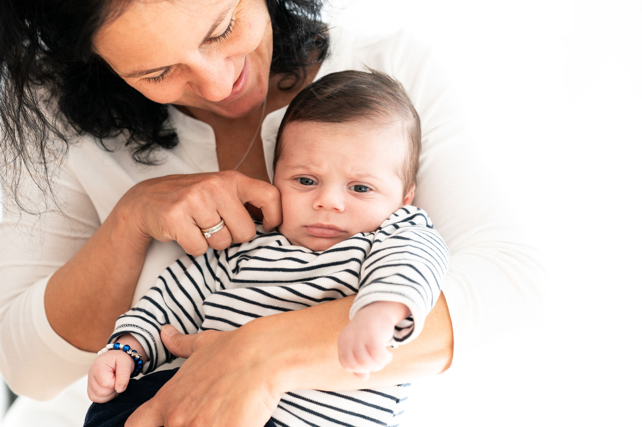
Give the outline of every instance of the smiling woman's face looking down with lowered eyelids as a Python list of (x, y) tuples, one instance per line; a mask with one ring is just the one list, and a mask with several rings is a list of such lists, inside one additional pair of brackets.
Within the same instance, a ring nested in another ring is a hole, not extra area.
[(268, 92), (265, 0), (132, 1), (94, 36), (98, 54), (155, 102), (243, 117)]

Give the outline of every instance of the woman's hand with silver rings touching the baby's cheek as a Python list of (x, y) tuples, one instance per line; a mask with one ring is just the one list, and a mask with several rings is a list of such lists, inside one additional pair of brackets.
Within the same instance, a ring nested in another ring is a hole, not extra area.
[[(134, 220), (145, 238), (175, 240), (190, 255), (207, 247), (225, 249), (232, 241), (254, 238), (256, 227), (245, 204), (261, 209), (263, 227), (281, 223), (281, 196), (276, 187), (242, 173), (225, 171), (168, 175), (133, 186), (114, 211)], [(205, 239), (200, 229), (225, 220), (225, 226)]]

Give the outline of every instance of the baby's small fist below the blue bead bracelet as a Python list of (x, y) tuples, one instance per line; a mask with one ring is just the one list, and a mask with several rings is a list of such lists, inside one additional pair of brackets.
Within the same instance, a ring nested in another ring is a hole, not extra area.
[(105, 403), (127, 388), (129, 376), (134, 371), (134, 359), (125, 351), (109, 350), (89, 368), (87, 394), (96, 403)]

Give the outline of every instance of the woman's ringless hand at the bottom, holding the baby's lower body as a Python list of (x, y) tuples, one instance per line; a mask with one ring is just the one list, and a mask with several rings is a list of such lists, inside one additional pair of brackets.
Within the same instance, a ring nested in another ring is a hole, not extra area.
[(171, 353), (189, 359), (126, 427), (265, 426), (281, 392), (272, 382), (275, 369), (262, 363), (259, 337), (248, 337), (243, 327), (183, 335), (171, 325), (161, 337)]

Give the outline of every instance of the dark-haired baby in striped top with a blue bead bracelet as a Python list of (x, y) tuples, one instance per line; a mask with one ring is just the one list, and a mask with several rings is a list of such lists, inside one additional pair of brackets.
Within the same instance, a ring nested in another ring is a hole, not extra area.
[[(339, 337), (339, 360), (361, 378), (382, 369), (392, 360), (387, 347), (421, 332), (447, 270), (446, 244), (428, 215), (410, 205), (420, 151), (417, 112), (385, 74), (337, 72), (305, 88), (277, 134), (278, 232), (257, 223), (248, 243), (186, 255), (166, 268), (117, 319), (89, 371), (92, 401), (110, 401), (125, 391), (130, 373), (147, 374), (175, 359), (160, 339), (164, 324), (185, 334), (233, 330), (351, 294), (357, 295)], [(399, 424), (407, 385), (291, 391), (268, 424), (392, 426)], [(87, 422), (104, 416), (106, 406), (92, 405)], [(114, 408), (107, 412), (115, 422)]]

